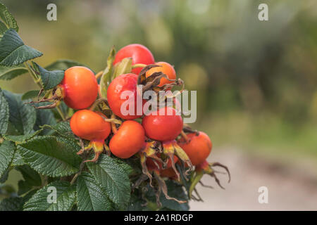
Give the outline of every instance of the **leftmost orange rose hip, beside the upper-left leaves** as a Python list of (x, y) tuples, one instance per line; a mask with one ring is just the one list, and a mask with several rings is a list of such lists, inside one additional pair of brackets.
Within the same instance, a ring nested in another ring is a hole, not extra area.
[(68, 68), (58, 86), (62, 89), (63, 101), (75, 110), (89, 107), (98, 96), (98, 83), (94, 72), (83, 66)]

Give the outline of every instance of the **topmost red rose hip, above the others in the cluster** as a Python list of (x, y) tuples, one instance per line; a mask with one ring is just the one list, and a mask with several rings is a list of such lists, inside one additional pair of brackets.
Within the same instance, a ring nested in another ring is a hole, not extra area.
[[(135, 64), (154, 64), (154, 56), (147, 49), (146, 46), (143, 46), (142, 44), (129, 44), (127, 46), (124, 46), (122, 49), (116, 53), (116, 57), (113, 60), (113, 65), (116, 65), (117, 63), (120, 63), (123, 58), (132, 58), (132, 65)], [(132, 73), (139, 74), (139, 72), (142, 70), (142, 68), (134, 68), (132, 69)]]

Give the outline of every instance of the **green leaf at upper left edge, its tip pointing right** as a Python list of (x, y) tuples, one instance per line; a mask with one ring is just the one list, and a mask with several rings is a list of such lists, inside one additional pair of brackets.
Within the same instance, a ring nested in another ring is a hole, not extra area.
[(42, 52), (25, 45), (13, 29), (7, 30), (0, 41), (0, 65), (19, 65), (42, 55)]

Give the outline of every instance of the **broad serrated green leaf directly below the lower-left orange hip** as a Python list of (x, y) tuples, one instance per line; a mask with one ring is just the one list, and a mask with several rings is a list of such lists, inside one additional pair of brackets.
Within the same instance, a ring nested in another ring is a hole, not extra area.
[(40, 174), (69, 176), (75, 174), (81, 158), (76, 155), (80, 146), (74, 141), (56, 136), (37, 136), (19, 148), (23, 160)]

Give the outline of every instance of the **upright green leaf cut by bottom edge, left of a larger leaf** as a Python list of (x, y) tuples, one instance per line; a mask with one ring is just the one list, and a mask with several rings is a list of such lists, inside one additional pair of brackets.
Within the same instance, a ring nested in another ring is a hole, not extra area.
[(77, 183), (77, 207), (80, 211), (113, 210), (111, 200), (96, 178), (88, 172), (82, 172)]

